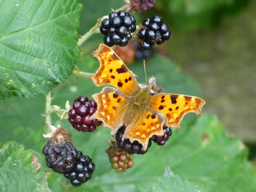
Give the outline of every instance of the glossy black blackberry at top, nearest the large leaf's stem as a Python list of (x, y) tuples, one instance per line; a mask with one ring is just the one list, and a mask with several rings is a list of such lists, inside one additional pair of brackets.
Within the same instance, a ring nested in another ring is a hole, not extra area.
[(132, 39), (131, 33), (136, 30), (135, 22), (135, 17), (125, 11), (112, 11), (108, 18), (102, 20), (99, 28), (105, 35), (104, 43), (109, 47), (113, 45), (126, 46)]

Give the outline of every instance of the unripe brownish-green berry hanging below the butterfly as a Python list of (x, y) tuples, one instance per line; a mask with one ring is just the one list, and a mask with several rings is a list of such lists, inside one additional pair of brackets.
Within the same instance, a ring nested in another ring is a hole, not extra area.
[(118, 147), (109, 147), (106, 150), (112, 168), (117, 172), (125, 172), (133, 166), (133, 156)]

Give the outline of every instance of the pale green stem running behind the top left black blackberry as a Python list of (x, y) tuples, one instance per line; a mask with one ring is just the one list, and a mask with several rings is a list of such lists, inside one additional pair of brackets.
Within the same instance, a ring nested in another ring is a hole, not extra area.
[[(120, 10), (124, 10), (127, 9), (129, 7), (129, 4), (125, 4), (123, 7), (117, 9), (116, 11), (120, 11)], [(83, 45), (83, 43), (90, 38), (90, 36), (92, 36), (94, 33), (99, 33), (99, 27), (101, 26), (101, 21), (105, 18), (108, 18), (108, 16), (103, 16), (102, 18), (99, 18), (97, 20), (97, 23), (92, 27), (92, 29), (90, 29), (88, 32), (86, 32), (83, 36), (81, 36), (81, 38), (78, 40), (77, 45), (81, 46)]]

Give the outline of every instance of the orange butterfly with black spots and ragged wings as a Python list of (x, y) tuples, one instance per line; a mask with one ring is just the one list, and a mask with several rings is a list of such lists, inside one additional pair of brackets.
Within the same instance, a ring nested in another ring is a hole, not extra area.
[[(180, 128), (180, 121), (186, 113), (194, 112), (201, 116), (204, 100), (195, 96), (167, 94), (156, 85), (139, 86), (135, 75), (124, 62), (110, 49), (100, 44), (91, 53), (100, 63), (96, 73), (90, 76), (94, 85), (104, 84), (100, 93), (93, 94), (97, 111), (92, 118), (103, 121), (111, 134), (126, 126), (122, 140), (137, 140), (144, 150), (153, 135), (163, 135), (163, 125)], [(142, 88), (141, 88), (142, 87)]]

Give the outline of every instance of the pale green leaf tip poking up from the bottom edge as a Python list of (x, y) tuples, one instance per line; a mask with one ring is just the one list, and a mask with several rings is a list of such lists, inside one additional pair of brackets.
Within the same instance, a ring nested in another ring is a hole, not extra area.
[(158, 184), (151, 187), (151, 192), (200, 192), (198, 186), (192, 186), (188, 181), (182, 182), (180, 177), (175, 175), (170, 167), (165, 167), (164, 174)]

